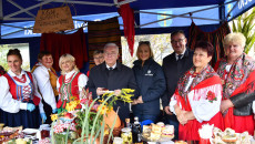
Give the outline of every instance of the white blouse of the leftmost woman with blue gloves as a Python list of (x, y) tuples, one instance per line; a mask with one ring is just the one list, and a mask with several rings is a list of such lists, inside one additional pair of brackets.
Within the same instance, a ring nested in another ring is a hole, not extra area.
[[(8, 71), (8, 74), (10, 74), (10, 76), (17, 76), (19, 79), (22, 78), (22, 74), (26, 74), (26, 79), (27, 81), (24, 83), (20, 83), (16, 80), (16, 83), (19, 84), (19, 85), (28, 85), (30, 83), (30, 79), (28, 76), (28, 74), (22, 70), (20, 75), (16, 75), (11, 70)], [(38, 92), (38, 86), (37, 86), (37, 80), (34, 79), (33, 74), (32, 74), (32, 79), (33, 79), (33, 88), (34, 88), (34, 94), (35, 96), (41, 97), (41, 94)], [(9, 86), (9, 83), (8, 83), (8, 80), (6, 76), (0, 76), (0, 107), (6, 111), (6, 112), (9, 112), (9, 113), (18, 113), (20, 110), (27, 110), (27, 103), (23, 103), (19, 100), (14, 100), (12, 99), (12, 95), (10, 93), (10, 86)], [(44, 110), (43, 110), (43, 104), (42, 102), (40, 101), (39, 103), (39, 110), (40, 110), (40, 113), (44, 113)]]

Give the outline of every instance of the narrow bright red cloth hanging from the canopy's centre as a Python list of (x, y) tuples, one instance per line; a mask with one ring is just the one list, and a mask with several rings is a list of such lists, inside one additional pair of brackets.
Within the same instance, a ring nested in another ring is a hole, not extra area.
[[(119, 2), (122, 0), (119, 0)], [(124, 35), (126, 38), (130, 53), (133, 56), (134, 52), (134, 10), (130, 8), (130, 4), (122, 4), (120, 9), (118, 10), (120, 16), (123, 19), (123, 27), (124, 27)]]

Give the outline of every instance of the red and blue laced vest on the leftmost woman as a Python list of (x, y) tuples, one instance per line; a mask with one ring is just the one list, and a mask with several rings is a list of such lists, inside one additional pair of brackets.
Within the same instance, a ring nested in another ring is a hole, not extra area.
[(40, 99), (33, 95), (34, 88), (33, 88), (32, 74), (30, 72), (26, 72), (26, 73), (27, 73), (26, 75), (28, 75), (30, 80), (30, 83), (28, 83), (27, 85), (19, 85), (14, 81), (14, 79), (8, 73), (3, 74), (3, 76), (7, 78), (8, 80), (8, 84), (10, 86), (10, 93), (12, 95), (12, 99), (21, 101), (21, 102), (30, 102), (30, 100), (32, 100), (34, 105), (39, 105)]

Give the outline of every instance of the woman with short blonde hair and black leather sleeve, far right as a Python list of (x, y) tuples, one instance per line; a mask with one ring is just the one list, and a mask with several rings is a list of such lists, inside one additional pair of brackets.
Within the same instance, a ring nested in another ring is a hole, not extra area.
[(215, 70), (223, 83), (221, 111), (225, 127), (237, 133), (254, 134), (253, 101), (255, 100), (255, 61), (245, 54), (245, 37), (230, 33), (224, 38), (226, 58), (220, 60)]

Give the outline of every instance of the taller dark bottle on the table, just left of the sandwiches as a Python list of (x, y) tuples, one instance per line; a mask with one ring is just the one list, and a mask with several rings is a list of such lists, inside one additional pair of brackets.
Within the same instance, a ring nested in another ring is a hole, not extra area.
[(142, 144), (142, 131), (141, 124), (139, 123), (139, 117), (134, 117), (134, 124), (132, 126), (132, 137), (134, 144)]

